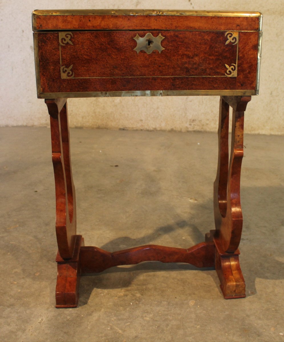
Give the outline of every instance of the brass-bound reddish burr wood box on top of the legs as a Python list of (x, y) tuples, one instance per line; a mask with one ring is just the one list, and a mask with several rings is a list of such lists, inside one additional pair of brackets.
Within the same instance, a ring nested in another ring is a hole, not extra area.
[(261, 21), (259, 12), (36, 10), (38, 97), (256, 95)]

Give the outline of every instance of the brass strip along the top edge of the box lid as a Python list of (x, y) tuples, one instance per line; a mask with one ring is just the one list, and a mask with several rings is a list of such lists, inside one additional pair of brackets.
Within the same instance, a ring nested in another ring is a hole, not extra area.
[(261, 17), (260, 12), (244, 11), (192, 11), (192, 10), (34, 10), (36, 15), (184, 15), (219, 17)]

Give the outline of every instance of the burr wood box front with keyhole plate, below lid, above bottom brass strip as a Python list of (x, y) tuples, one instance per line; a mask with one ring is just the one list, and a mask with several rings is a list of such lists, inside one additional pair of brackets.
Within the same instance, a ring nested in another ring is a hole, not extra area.
[(61, 31), (35, 35), (39, 97), (67, 92), (256, 88), (257, 31)]

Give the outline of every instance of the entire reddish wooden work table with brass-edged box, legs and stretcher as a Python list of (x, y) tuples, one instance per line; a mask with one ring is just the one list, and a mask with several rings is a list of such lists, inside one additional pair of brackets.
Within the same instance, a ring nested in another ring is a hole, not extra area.
[[(81, 273), (142, 261), (215, 267), (226, 299), (245, 297), (239, 264), (244, 112), (258, 94), (259, 12), (34, 11), (37, 93), (51, 123), (58, 244), (56, 307), (76, 307)], [(216, 230), (188, 249), (146, 245), (117, 252), (76, 235), (68, 97), (220, 95), (214, 183)], [(229, 160), (229, 107), (233, 108)]]

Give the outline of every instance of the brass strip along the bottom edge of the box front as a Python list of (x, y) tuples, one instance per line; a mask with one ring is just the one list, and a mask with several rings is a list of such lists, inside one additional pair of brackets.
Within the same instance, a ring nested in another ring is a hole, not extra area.
[(126, 96), (236, 96), (257, 95), (255, 90), (142, 90), (110, 92), (38, 93), (38, 98), (126, 97)]

